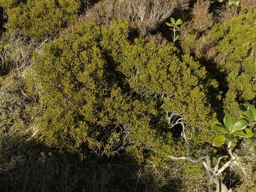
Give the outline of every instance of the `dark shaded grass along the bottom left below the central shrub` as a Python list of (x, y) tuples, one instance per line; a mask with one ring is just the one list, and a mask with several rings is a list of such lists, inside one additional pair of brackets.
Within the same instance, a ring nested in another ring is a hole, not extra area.
[(9, 164), (0, 167), (2, 192), (142, 191), (137, 165), (94, 157), (81, 161), (73, 155), (54, 154), (36, 143), (25, 147), (9, 153)]

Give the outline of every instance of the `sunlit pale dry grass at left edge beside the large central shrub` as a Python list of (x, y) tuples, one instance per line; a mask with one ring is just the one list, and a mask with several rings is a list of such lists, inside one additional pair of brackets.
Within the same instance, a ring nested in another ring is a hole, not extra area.
[(4, 79), (0, 87), (0, 134), (4, 138), (17, 137), (25, 141), (37, 135), (36, 117), (41, 113), (38, 93), (39, 86), (31, 68)]

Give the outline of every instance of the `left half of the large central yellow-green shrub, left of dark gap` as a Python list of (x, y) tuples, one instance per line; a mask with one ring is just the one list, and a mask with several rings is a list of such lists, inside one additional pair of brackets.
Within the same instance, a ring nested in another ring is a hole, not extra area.
[(43, 139), (62, 151), (89, 147), (98, 155), (113, 155), (130, 145), (131, 130), (147, 133), (155, 103), (134, 100), (118, 86), (114, 62), (100, 46), (100, 27), (76, 28), (35, 57), (45, 93)]

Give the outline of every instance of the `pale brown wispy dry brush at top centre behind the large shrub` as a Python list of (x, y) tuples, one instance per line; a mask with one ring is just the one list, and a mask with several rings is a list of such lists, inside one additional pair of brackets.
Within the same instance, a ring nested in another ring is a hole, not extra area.
[(166, 0), (105, 1), (94, 5), (78, 20), (93, 20), (99, 25), (109, 26), (113, 19), (124, 19), (135, 23), (140, 34), (145, 36), (169, 18), (177, 6), (177, 1)]

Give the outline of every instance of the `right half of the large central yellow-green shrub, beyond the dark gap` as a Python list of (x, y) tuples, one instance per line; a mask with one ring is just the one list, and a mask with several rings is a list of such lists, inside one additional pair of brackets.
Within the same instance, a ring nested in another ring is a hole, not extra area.
[[(111, 35), (116, 37), (117, 34), (118, 31), (114, 31)], [(117, 69), (125, 75), (138, 97), (155, 98), (161, 106), (159, 109), (165, 113), (177, 111), (186, 118), (190, 127), (197, 127), (197, 131), (209, 136), (198, 141), (209, 142), (212, 138), (209, 119), (214, 118), (214, 113), (207, 89), (218, 84), (206, 80), (204, 67), (189, 54), (180, 55), (173, 44), (162, 47), (140, 38), (133, 44), (118, 42), (119, 39), (108, 42), (114, 47), (111, 54), (120, 63)], [(123, 50), (122, 54), (118, 52), (120, 50)]]

